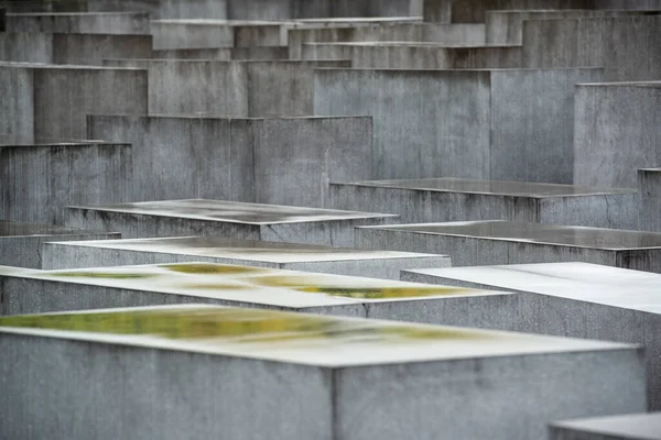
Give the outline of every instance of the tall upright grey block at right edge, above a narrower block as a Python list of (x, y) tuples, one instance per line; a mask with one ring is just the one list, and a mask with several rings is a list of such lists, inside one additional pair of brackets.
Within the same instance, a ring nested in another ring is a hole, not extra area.
[(661, 165), (661, 81), (578, 85), (575, 106), (575, 184), (635, 188)]

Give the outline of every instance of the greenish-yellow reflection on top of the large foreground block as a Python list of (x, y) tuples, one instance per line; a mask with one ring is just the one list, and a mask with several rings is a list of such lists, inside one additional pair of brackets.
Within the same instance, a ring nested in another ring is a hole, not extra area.
[(0, 318), (0, 327), (109, 334), (152, 334), (165, 339), (226, 339), (236, 343), (370, 342), (484, 339), (481, 332), (452, 328), (384, 326), (370, 321), (259, 309), (201, 308), (98, 314), (32, 315)]

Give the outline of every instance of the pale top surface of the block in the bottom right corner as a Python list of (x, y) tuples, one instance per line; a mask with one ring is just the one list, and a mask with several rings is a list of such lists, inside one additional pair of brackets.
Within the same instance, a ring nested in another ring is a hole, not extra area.
[(600, 435), (605, 438), (661, 440), (661, 413), (565, 420), (554, 422), (552, 426), (577, 432)]

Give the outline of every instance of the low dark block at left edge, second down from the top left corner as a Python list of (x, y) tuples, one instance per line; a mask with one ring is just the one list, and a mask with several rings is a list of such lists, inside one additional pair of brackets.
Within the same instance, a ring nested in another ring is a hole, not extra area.
[(105, 58), (145, 58), (151, 35), (4, 32), (0, 59), (24, 63), (101, 65)]

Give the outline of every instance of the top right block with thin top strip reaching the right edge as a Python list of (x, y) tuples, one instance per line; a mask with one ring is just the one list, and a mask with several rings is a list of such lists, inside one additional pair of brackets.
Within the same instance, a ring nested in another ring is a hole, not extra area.
[[(599, 2), (600, 3), (600, 2)], [(624, 8), (622, 8), (624, 9)], [(557, 11), (487, 11), (487, 44), (523, 44), (524, 20), (557, 20), (581, 18), (636, 16), (658, 14), (658, 11), (625, 10), (557, 10)]]

